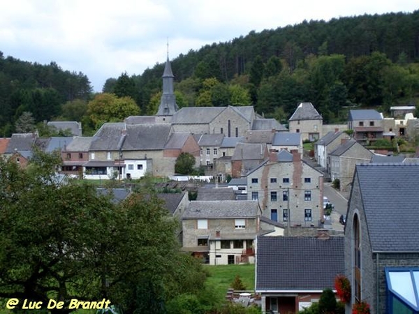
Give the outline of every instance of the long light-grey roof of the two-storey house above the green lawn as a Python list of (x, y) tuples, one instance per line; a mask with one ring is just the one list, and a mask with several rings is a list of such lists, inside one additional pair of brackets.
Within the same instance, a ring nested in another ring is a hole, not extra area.
[(258, 201), (191, 201), (183, 218), (256, 218)]

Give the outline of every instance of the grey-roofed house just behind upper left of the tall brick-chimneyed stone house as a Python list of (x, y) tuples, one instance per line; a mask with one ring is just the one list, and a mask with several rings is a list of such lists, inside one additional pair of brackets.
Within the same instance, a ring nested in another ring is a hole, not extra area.
[(231, 177), (240, 178), (269, 158), (266, 144), (238, 143), (231, 156)]

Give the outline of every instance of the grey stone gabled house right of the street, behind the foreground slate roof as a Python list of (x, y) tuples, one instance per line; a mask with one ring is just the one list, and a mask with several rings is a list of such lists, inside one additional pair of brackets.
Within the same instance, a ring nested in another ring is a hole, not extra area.
[(357, 163), (369, 163), (374, 154), (355, 140), (348, 140), (329, 154), (330, 179), (339, 179), (341, 191), (351, 190), (353, 172)]

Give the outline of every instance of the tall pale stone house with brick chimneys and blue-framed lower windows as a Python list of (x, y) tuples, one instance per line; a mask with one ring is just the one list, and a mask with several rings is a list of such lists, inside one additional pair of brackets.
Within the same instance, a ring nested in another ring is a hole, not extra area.
[(323, 174), (298, 151), (271, 152), (247, 173), (247, 199), (258, 200), (263, 216), (290, 226), (318, 227), (323, 218)]

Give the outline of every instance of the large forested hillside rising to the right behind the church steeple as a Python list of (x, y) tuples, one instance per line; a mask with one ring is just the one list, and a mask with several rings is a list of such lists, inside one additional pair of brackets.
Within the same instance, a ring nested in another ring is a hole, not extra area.
[[(326, 121), (335, 121), (346, 119), (340, 109), (348, 105), (385, 111), (390, 105), (416, 104), (418, 60), (415, 11), (251, 31), (181, 54), (172, 60), (172, 70), (180, 105), (233, 105), (237, 94), (245, 105), (246, 92), (265, 116), (287, 119), (298, 102), (311, 101)], [(162, 73), (160, 63), (131, 77), (142, 112), (148, 106), (153, 113)], [(115, 82), (108, 80), (104, 91), (112, 91)]]

